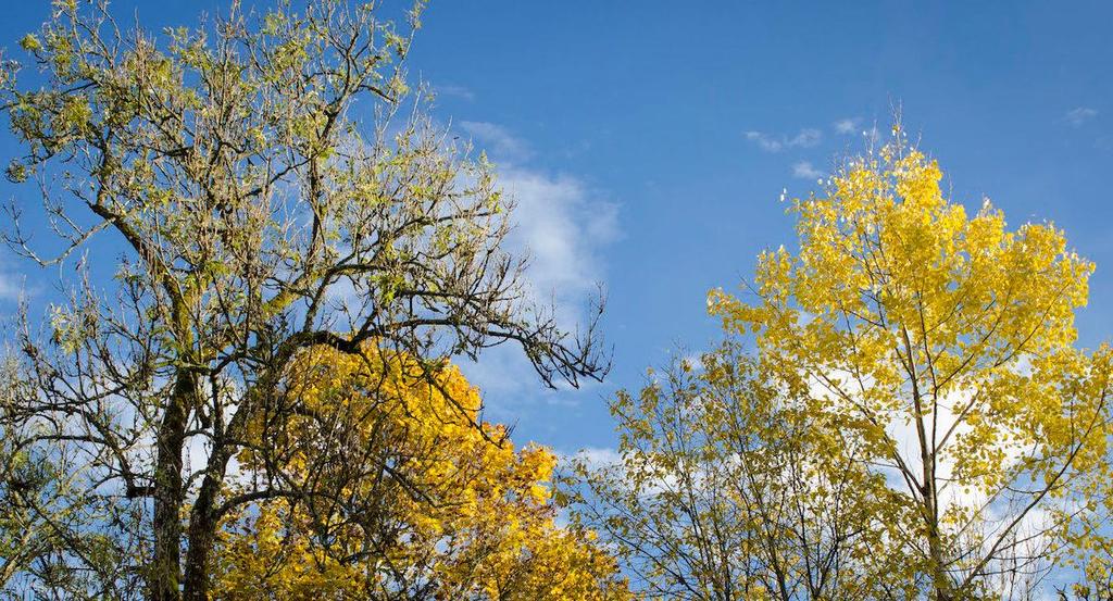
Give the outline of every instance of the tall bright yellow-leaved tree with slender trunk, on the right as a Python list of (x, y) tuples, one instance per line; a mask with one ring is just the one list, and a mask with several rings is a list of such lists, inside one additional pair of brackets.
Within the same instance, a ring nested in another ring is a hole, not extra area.
[(751, 300), (709, 307), (861, 436), (908, 518), (886, 552), (933, 599), (1011, 594), (1099, 535), (1110, 352), (1075, 346), (1093, 264), (988, 200), (968, 217), (942, 177), (894, 128), (794, 205), (799, 250), (761, 255)]

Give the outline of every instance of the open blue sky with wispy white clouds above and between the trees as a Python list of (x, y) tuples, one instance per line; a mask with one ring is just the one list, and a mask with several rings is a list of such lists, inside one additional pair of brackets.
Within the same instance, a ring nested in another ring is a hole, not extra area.
[[(114, 6), (161, 27), (221, 3)], [(47, 10), (8, 8), (3, 46)], [(814, 189), (897, 105), (955, 200), (988, 196), (1013, 226), (1052, 220), (1097, 263), (1078, 326), (1087, 346), (1107, 339), (1110, 23), (1113, 4), (1100, 2), (434, 1), (412, 79), (503, 169), (522, 207), (514, 243), (534, 248), (540, 284), (574, 305), (599, 280), (609, 298), (605, 384), (545, 392), (495, 353), (471, 372), (491, 415), (561, 452), (613, 444), (612, 391), (639, 386), (678, 345), (713, 339), (707, 290), (733, 288), (762, 248), (794, 243), (781, 190)], [(0, 149), (11, 155), (7, 132)], [(24, 278), (49, 289), (53, 275), (0, 255), (0, 313)]]

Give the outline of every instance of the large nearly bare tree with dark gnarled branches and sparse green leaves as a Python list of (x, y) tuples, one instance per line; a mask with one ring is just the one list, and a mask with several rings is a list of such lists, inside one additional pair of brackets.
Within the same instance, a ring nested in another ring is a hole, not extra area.
[(525, 294), (491, 166), (420, 100), (400, 111), (420, 8), (402, 31), (375, 6), (326, 1), (155, 37), (121, 31), (104, 2), (60, 1), (20, 42), (38, 87), (4, 62), (26, 149), (8, 177), (38, 184), (60, 252), (21, 228), (26, 200), (7, 240), (41, 264), (98, 254), (75, 262), (51, 339), (21, 336), (37, 391), (17, 413), (81, 462), (120, 590), (208, 597), (219, 524), (286, 484), (226, 492), (233, 459), (273, 440), (250, 428), (287, 423), (259, 412), (302, 349), (374, 341), (435, 373), (509, 342), (549, 385), (605, 372), (594, 319), (573, 336)]

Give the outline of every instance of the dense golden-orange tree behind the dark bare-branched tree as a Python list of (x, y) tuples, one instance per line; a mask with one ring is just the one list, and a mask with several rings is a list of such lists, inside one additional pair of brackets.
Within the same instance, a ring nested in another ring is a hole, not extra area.
[(455, 367), (426, 375), (394, 352), (292, 361), (279, 406), (248, 426), (276, 440), (246, 445), (237, 479), (286, 484), (273, 497), (233, 485), (254, 501), (227, 515), (217, 597), (629, 598), (590, 532), (555, 525), (555, 456), (476, 428), (477, 391)]

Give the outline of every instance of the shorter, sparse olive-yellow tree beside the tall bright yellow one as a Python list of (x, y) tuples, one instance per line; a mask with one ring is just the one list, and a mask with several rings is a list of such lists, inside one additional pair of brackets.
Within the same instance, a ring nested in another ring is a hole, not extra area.
[(741, 341), (620, 392), (619, 460), (580, 457), (563, 490), (650, 599), (905, 598), (877, 553), (897, 534), (883, 476), (806, 390), (778, 386)]

